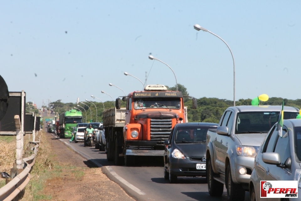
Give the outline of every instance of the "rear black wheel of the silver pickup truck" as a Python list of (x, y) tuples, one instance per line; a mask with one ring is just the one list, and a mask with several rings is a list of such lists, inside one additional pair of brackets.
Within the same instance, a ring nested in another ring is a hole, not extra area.
[(208, 192), (210, 196), (222, 196), (224, 192), (224, 184), (214, 180), (214, 172), (211, 164), (211, 159), (207, 159), (207, 183), (208, 183)]

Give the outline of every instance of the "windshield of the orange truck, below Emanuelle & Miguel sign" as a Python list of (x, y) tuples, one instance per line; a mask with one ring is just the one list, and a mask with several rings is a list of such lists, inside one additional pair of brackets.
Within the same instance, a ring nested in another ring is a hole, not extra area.
[(180, 109), (181, 102), (179, 98), (156, 99), (156, 98), (141, 98), (134, 100), (134, 109), (149, 109), (149, 108), (170, 108)]

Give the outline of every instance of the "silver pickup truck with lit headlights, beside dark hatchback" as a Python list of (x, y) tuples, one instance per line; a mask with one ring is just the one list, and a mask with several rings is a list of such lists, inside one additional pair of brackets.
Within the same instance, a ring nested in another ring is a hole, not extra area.
[[(221, 196), (224, 184), (230, 201), (244, 200), (254, 158), (268, 131), (278, 121), (281, 106), (235, 106), (224, 112), (217, 129), (207, 133), (206, 169), (211, 196)], [(284, 107), (284, 119), (299, 109)]]

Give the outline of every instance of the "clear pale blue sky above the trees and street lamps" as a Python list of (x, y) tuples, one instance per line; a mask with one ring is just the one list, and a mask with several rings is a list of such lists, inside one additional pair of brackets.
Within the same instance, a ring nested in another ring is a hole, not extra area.
[[(0, 75), (38, 106), (111, 100), (148, 84), (236, 100), (300, 95), (301, 1), (0, 1)], [(67, 31), (67, 33), (66, 33)], [(151, 68), (151, 71), (150, 71)], [(35, 76), (35, 73), (37, 76)]]

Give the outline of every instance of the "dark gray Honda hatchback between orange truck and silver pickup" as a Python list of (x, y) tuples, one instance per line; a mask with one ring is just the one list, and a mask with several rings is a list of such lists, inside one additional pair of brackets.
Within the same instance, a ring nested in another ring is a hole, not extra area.
[(206, 176), (206, 135), (216, 123), (180, 123), (164, 142), (164, 178)]

